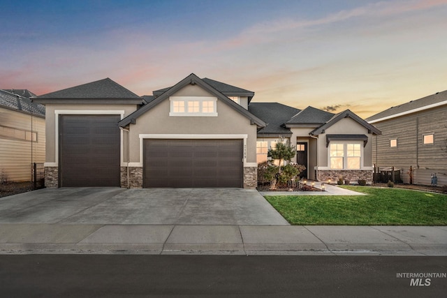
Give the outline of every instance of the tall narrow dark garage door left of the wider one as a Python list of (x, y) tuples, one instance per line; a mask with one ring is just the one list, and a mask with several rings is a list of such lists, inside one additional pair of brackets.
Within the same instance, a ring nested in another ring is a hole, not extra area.
[(119, 115), (61, 115), (59, 186), (120, 186)]

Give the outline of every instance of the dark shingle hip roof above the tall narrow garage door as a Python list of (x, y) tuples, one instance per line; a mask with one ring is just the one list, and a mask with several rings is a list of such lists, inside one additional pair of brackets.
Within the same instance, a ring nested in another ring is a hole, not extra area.
[(95, 82), (82, 84), (79, 86), (54, 91), (41, 96), (35, 96), (38, 99), (104, 99), (104, 98), (119, 98), (119, 99), (142, 99), (140, 96), (134, 94), (132, 91), (122, 87), (120, 84), (105, 78)]

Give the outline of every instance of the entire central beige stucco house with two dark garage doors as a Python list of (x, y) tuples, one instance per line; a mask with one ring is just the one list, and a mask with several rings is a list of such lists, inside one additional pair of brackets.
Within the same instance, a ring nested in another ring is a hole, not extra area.
[[(284, 138), (298, 144), (309, 179), (371, 181), (374, 126), (350, 111), (300, 111), (253, 96), (194, 74), (152, 96), (110, 79), (36, 96), (47, 109), (45, 184), (255, 188), (265, 148)], [(309, 123), (314, 114), (318, 124)]]

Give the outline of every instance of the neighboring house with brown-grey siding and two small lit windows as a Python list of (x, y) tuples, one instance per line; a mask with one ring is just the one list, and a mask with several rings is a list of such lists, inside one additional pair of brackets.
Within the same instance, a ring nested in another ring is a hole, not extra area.
[[(374, 137), (377, 166), (412, 167), (413, 184), (447, 184), (447, 91), (390, 107), (366, 119), (382, 131)], [(405, 179), (409, 183), (409, 179)]]

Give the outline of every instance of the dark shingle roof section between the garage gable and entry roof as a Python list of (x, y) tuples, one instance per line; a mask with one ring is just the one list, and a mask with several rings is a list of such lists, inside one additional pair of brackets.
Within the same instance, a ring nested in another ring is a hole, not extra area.
[(281, 103), (250, 103), (249, 112), (263, 119), (267, 124), (265, 128), (258, 131), (258, 134), (291, 135), (290, 129), (285, 128), (284, 123), (300, 110)]

